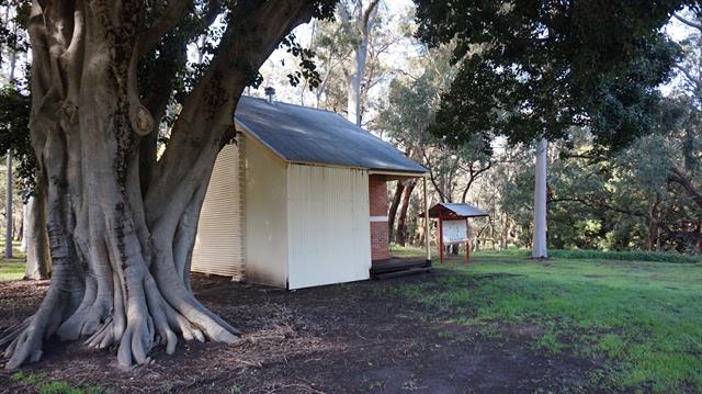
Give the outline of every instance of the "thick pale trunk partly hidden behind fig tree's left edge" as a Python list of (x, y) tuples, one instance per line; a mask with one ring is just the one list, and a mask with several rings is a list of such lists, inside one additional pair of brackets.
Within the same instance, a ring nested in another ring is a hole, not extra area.
[(26, 267), (24, 279), (48, 279), (52, 257), (46, 233), (46, 195), (39, 191), (31, 196), (24, 206), (24, 228), (26, 243)]

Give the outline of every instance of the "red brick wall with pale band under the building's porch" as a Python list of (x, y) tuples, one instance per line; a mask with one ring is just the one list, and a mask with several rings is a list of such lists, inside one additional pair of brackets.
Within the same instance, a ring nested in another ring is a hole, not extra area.
[[(371, 176), (369, 179), (371, 216), (387, 216), (387, 180), (384, 176)], [(387, 218), (371, 221), (371, 259), (390, 258)]]

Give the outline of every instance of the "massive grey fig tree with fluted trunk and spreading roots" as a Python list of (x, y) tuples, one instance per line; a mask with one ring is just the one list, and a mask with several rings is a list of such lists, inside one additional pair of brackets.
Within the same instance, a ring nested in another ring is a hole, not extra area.
[[(53, 273), (38, 311), (0, 340), (7, 368), (37, 361), (54, 338), (117, 347), (122, 365), (147, 362), (157, 345), (170, 353), (179, 338), (237, 341), (239, 331), (190, 289), (200, 209), (245, 87), (282, 41), (299, 52), (286, 38), (293, 27), (332, 8), (324, 0), (32, 2), (30, 133)], [(195, 42), (207, 56), (188, 65)], [(157, 155), (166, 120), (169, 138)]]

